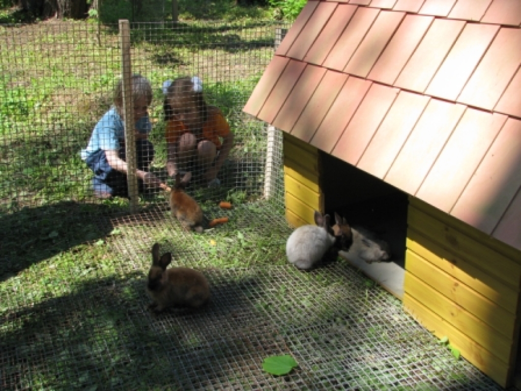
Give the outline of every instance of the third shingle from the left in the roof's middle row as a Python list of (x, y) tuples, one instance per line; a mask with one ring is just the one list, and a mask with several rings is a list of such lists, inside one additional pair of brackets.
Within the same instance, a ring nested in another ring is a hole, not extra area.
[(356, 6), (341, 4), (334, 11), (324, 29), (320, 32), (315, 43), (306, 56), (304, 61), (316, 65), (321, 65), (337, 42), (345, 26), (349, 23), (356, 11)]

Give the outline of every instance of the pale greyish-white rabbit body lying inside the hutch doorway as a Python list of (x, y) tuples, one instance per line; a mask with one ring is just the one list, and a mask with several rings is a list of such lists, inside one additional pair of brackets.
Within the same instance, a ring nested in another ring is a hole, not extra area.
[(351, 227), (353, 244), (345, 254), (348, 259), (359, 258), (367, 263), (387, 261), (390, 258), (389, 245), (386, 241), (366, 228)]

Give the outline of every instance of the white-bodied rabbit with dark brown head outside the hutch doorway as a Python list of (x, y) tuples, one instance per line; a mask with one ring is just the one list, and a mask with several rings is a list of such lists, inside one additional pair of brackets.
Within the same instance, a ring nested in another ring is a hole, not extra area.
[[(286, 242), (288, 261), (302, 270), (309, 270), (339, 249), (347, 251), (352, 243), (351, 228), (335, 214), (336, 223), (330, 226), (329, 215), (315, 211), (316, 225), (303, 225), (293, 231)], [(330, 252), (332, 253), (330, 254)]]

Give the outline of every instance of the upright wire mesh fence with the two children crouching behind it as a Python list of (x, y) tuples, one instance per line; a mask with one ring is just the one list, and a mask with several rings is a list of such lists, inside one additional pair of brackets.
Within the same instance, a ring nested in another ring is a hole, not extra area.
[[(197, 76), (205, 103), (222, 114), (234, 140), (217, 174), (221, 186), (208, 188), (203, 174), (194, 173), (189, 192), (196, 199), (238, 202), (264, 197), (266, 164), (274, 172), (276, 164), (280, 168), (280, 154), (271, 153), (271, 161), (266, 162), (266, 152), (281, 149), (267, 144), (266, 126), (248, 118), (242, 107), (273, 53), (275, 30), (270, 23), (131, 26), (131, 71), (145, 77), (152, 87), (150, 172), (173, 184), (166, 169), (170, 147), (163, 84)], [(80, 151), (87, 148), (95, 125), (115, 104), (114, 90), (122, 76), (117, 26), (98, 30), (84, 23), (48, 23), (3, 27), (0, 34), (2, 209), (63, 200), (95, 201), (95, 170), (82, 161)], [(280, 144), (280, 135), (270, 142)], [(116, 144), (121, 146), (121, 140)], [(271, 176), (278, 180), (272, 190), (279, 196), (280, 178)], [(162, 200), (164, 193), (157, 188), (148, 188), (140, 199), (142, 204)], [(125, 206), (124, 200), (118, 202)]]

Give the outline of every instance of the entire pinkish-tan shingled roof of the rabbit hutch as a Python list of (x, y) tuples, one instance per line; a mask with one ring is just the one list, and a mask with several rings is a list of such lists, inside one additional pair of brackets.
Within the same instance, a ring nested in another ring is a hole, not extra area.
[(521, 250), (521, 1), (310, 0), (244, 111)]

